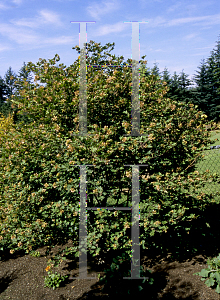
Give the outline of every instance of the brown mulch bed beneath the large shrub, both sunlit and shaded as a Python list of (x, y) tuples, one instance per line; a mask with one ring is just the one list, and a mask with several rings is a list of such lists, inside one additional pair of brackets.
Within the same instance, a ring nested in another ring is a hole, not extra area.
[[(138, 296), (139, 299), (220, 299), (215, 287), (207, 287), (200, 276), (193, 275), (207, 267), (208, 257), (216, 257), (220, 253), (219, 212), (219, 205), (207, 209), (204, 220), (191, 221), (194, 223), (190, 234), (182, 234), (180, 240), (172, 230), (155, 237), (154, 242), (157, 240), (157, 243), (168, 249), (166, 254), (161, 255), (158, 248), (141, 249), (141, 265), (152, 271), (154, 285), (151, 291), (144, 289), (142, 296)], [(205, 226), (206, 222), (209, 222), (210, 228)], [(178, 243), (180, 254), (177, 258), (174, 248)], [(40, 257), (32, 257), (24, 253), (1, 255), (0, 300), (112, 299), (108, 292), (102, 291), (103, 285), (99, 283), (98, 278), (80, 280), (73, 278), (79, 274), (78, 258), (67, 259), (55, 268), (61, 275), (70, 275), (63, 285), (55, 290), (44, 287), (48, 259), (58, 252), (58, 248), (64, 249), (66, 246), (72, 246), (72, 241), (69, 240), (65, 245), (55, 245), (47, 256), (45, 256), (46, 246), (37, 249), (41, 254)], [(194, 247), (198, 249), (196, 254), (190, 250)], [(98, 273), (103, 275), (104, 269), (110, 266), (113, 257), (112, 253), (108, 255), (103, 256), (105, 260), (99, 264), (98, 257), (94, 258), (87, 253), (88, 274), (96, 277)]]

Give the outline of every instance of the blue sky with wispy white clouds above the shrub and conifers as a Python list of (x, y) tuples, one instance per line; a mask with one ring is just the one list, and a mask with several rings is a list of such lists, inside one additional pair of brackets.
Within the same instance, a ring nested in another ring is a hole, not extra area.
[(208, 58), (220, 34), (219, 0), (0, 0), (0, 75), (9, 66), (16, 73), (23, 62), (36, 63), (57, 53), (66, 66), (78, 57), (79, 24), (87, 25), (87, 42), (115, 43), (111, 52), (132, 58), (132, 26), (140, 24), (140, 59), (150, 68), (182, 70), (192, 78)]

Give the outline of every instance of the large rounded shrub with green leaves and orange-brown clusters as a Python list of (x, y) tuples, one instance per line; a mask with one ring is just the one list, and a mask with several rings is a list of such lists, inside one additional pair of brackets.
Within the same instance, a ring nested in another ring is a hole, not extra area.
[[(123, 57), (101, 54), (113, 44), (90, 41), (87, 64), (103, 65), (107, 56), (112, 65), (122, 64)], [(80, 51), (79, 46), (73, 49)], [(140, 133), (145, 136), (126, 137), (131, 133), (132, 69), (88, 68), (88, 135), (79, 136), (79, 58), (69, 67), (56, 67), (59, 60), (55, 55), (28, 63), (35, 83), (18, 80), (18, 93), (12, 95), (18, 115), (27, 113), (28, 122), (13, 124), (15, 130), (0, 137), (0, 243), (28, 252), (51, 241), (74, 237), (77, 242), (79, 166), (87, 164), (95, 165), (87, 168), (88, 206), (102, 207), (108, 206), (109, 195), (118, 206), (124, 188), (129, 191), (120, 205), (131, 205), (131, 167), (124, 165), (148, 164), (140, 167), (142, 247), (147, 236), (195, 218), (193, 209), (202, 209), (215, 196), (197, 188), (218, 178), (195, 171), (202, 151), (214, 143), (204, 127), (206, 116), (193, 104), (167, 98), (166, 84), (153, 74), (145, 76), (141, 60)], [(130, 251), (131, 214), (89, 214), (90, 253), (103, 250), (103, 240), (106, 248)]]

